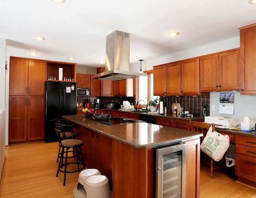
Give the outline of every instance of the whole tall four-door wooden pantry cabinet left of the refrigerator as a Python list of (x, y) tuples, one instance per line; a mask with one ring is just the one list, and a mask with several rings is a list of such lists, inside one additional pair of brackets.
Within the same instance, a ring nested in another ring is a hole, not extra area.
[(10, 57), (9, 143), (44, 139), (46, 61)]

